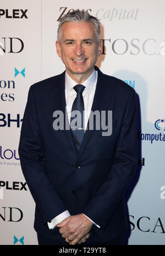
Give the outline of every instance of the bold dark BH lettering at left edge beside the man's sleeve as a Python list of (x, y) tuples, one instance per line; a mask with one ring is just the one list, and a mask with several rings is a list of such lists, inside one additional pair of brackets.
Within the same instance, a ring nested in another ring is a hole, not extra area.
[(12, 119), (10, 114), (0, 113), (0, 127), (11, 127), (11, 124), (14, 123), (19, 128), (22, 121), (23, 119), (20, 119), (20, 114), (17, 114), (17, 119)]

